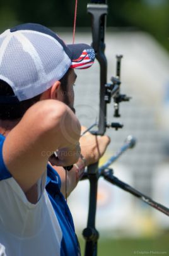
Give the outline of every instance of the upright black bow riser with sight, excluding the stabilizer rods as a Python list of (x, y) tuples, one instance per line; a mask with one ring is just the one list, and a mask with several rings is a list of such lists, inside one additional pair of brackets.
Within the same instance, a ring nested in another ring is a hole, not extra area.
[[(120, 59), (117, 56), (117, 77), (112, 78), (112, 83), (107, 83), (107, 59), (105, 56), (105, 26), (108, 5), (106, 0), (91, 0), (87, 6), (88, 13), (91, 15), (91, 30), (92, 30), (92, 47), (95, 50), (96, 59), (100, 64), (100, 109), (98, 119), (98, 130), (94, 131), (95, 135), (103, 135), (107, 127), (122, 128), (120, 123), (107, 123), (107, 104), (114, 97), (115, 113), (114, 116), (119, 116), (119, 103), (122, 101), (120, 95)], [(127, 98), (126, 98), (127, 100)], [(129, 98), (128, 98), (129, 100)], [(95, 125), (95, 124), (94, 124)], [(93, 126), (91, 126), (93, 127)], [(89, 130), (89, 129), (88, 129)], [(88, 213), (87, 228), (83, 231), (83, 236), (86, 240), (85, 255), (96, 255), (98, 231), (95, 228), (96, 216), (96, 195), (98, 185), (98, 162), (88, 166), (87, 177), (90, 181), (90, 204)]]

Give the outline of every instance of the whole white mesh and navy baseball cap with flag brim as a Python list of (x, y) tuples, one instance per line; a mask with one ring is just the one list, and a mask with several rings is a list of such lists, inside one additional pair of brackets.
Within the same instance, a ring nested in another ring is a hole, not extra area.
[(69, 68), (89, 68), (94, 60), (91, 46), (66, 45), (40, 24), (8, 29), (0, 35), (0, 79), (11, 86), (15, 97), (1, 96), (0, 102), (31, 99), (60, 80)]

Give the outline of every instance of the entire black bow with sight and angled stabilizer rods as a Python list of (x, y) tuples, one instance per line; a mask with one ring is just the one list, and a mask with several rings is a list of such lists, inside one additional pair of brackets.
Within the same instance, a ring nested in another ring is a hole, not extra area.
[[(129, 101), (131, 97), (127, 95), (120, 94), (120, 61), (122, 56), (116, 56), (117, 66), (116, 66), (116, 76), (112, 76), (111, 82), (107, 83), (107, 59), (105, 56), (105, 27), (108, 5), (107, 0), (91, 0), (91, 3), (87, 6), (88, 13), (91, 15), (91, 30), (92, 30), (92, 47), (95, 50), (95, 55), (98, 63), (100, 64), (100, 111), (98, 123), (94, 123), (86, 131), (91, 130), (93, 126), (98, 125), (97, 131), (92, 131), (95, 135), (103, 135), (107, 128), (115, 128), (118, 130), (122, 128), (120, 123), (110, 123), (107, 122), (107, 104), (114, 100), (114, 116), (119, 117), (119, 104), (122, 101)], [(86, 132), (85, 131), (85, 132)], [(84, 133), (85, 133), (84, 132)], [(83, 134), (84, 134), (83, 133)], [(83, 135), (82, 134), (82, 135)], [(110, 183), (119, 186), (123, 190), (131, 193), (132, 195), (140, 198), (146, 204), (151, 205), (157, 210), (160, 210), (164, 214), (169, 216), (169, 209), (165, 206), (154, 202), (151, 198), (147, 197), (141, 192), (138, 192), (131, 186), (120, 181), (114, 176), (113, 170), (108, 168), (112, 162), (117, 160), (120, 155), (127, 149), (134, 147), (136, 140), (133, 137), (128, 137), (127, 141), (124, 143), (122, 148), (111, 157), (101, 168), (98, 168), (98, 162), (88, 166), (88, 169), (83, 176), (83, 180), (88, 178), (90, 181), (90, 202), (88, 211), (88, 222), (87, 227), (83, 230), (83, 237), (86, 240), (85, 246), (85, 256), (96, 256), (97, 255), (97, 241), (98, 241), (98, 231), (95, 228), (95, 216), (96, 216), (96, 195), (98, 178), (103, 176), (105, 180)]]

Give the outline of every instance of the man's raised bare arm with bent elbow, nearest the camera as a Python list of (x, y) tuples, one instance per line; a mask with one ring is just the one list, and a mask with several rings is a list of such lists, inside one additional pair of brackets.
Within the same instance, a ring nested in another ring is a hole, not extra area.
[[(50, 153), (62, 148), (76, 151), (79, 135), (79, 121), (69, 107), (60, 101), (40, 101), (26, 111), (6, 137), (4, 162), (27, 192), (46, 170)], [(73, 164), (78, 157), (67, 155), (66, 164)]]

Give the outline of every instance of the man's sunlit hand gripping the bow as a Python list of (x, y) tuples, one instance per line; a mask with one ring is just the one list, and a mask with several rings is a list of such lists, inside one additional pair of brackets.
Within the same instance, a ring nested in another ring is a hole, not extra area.
[[(81, 133), (86, 130), (85, 126), (81, 126)], [(110, 138), (107, 135), (96, 136), (92, 135), (90, 132), (86, 132), (80, 140), (81, 154), (86, 159), (86, 165), (94, 164), (100, 157), (105, 153), (108, 144), (110, 143)]]

